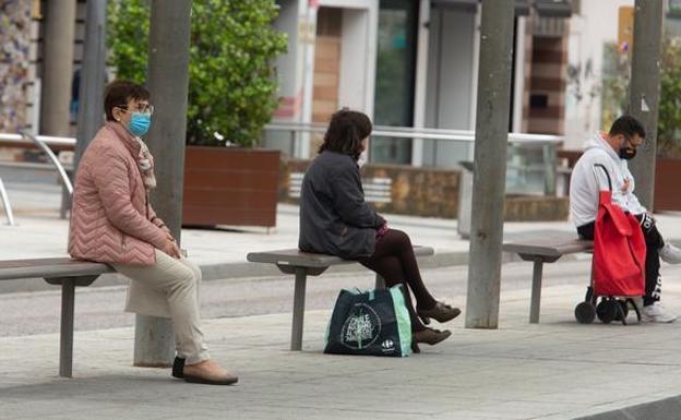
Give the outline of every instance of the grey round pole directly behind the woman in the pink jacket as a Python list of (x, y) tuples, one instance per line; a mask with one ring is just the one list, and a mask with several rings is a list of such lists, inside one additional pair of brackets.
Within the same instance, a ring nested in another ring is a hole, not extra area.
[[(148, 87), (156, 107), (146, 139), (156, 161), (158, 187), (152, 203), (177, 240), (182, 227), (182, 185), (191, 0), (152, 0)], [(172, 323), (136, 316), (135, 365), (169, 365), (174, 357)]]

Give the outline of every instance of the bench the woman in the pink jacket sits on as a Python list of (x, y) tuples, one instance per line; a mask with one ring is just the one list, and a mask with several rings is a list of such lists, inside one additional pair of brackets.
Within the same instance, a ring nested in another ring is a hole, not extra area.
[(72, 375), (75, 287), (89, 286), (99, 275), (112, 272), (107, 264), (69, 257), (0, 261), (0, 280), (44, 278), (50, 285), (61, 285), (60, 376)]

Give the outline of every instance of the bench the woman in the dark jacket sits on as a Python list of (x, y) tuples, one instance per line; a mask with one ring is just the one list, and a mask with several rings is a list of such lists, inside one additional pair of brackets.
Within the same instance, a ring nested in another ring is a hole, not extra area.
[[(416, 256), (433, 255), (430, 247), (414, 247)], [(250, 252), (247, 257), (252, 263), (275, 264), (282, 273), (296, 275), (294, 289), (294, 322), (291, 328), (291, 350), (302, 348), (302, 324), (304, 314), (304, 292), (308, 276), (319, 276), (332, 265), (358, 264), (357, 261), (343, 260), (338, 256), (313, 254), (299, 250), (278, 250)], [(385, 287), (383, 278), (377, 274), (375, 288)]]

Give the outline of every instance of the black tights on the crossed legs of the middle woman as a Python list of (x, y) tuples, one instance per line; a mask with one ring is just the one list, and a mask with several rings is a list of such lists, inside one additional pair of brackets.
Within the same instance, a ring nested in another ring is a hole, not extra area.
[(403, 285), (405, 304), (411, 319), (411, 331), (425, 329), (426, 326), (417, 316), (411, 303), (409, 289), (414, 292), (418, 308), (431, 309), (437, 301), (423, 285), (407, 233), (390, 229), (383, 238), (377, 240), (373, 255), (360, 259), (359, 263), (381, 275), (387, 287)]

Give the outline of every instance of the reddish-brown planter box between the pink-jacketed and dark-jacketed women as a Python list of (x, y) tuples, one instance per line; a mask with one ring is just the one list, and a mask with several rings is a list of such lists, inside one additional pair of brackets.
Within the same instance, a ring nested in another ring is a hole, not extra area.
[(279, 151), (188, 146), (182, 225), (276, 225)]

